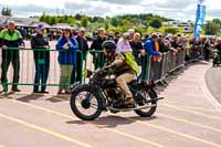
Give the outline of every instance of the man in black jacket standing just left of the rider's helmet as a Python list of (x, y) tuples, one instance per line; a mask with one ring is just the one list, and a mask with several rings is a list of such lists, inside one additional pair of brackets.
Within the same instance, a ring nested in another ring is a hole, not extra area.
[[(102, 49), (102, 43), (106, 41), (106, 31), (104, 28), (98, 29), (98, 38), (95, 39), (91, 45), (91, 50), (95, 51), (103, 51)], [(98, 67), (104, 66), (105, 57), (103, 53), (95, 53), (94, 54), (94, 64), (95, 64), (95, 70)]]

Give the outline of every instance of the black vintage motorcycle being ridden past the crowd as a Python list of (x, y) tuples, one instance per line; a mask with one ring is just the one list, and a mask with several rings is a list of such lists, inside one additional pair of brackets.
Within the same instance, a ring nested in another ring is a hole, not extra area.
[(150, 117), (157, 109), (158, 97), (154, 90), (154, 82), (143, 82), (138, 77), (128, 84), (135, 105), (128, 107), (124, 105), (125, 95), (117, 87), (116, 80), (104, 74), (108, 72), (105, 67), (95, 72), (86, 71), (84, 76), (88, 78), (88, 84), (75, 84), (72, 87), (70, 105), (72, 112), (83, 120), (93, 120), (102, 112), (129, 112), (135, 111), (141, 117)]

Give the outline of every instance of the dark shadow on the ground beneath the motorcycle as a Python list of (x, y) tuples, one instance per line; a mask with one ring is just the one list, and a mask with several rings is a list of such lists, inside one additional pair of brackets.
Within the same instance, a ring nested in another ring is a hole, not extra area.
[(128, 125), (136, 123), (136, 120), (152, 120), (156, 119), (156, 116), (152, 117), (146, 117), (146, 118), (140, 118), (139, 116), (134, 116), (134, 117), (120, 117), (120, 116), (105, 116), (105, 117), (99, 117), (96, 120), (93, 122), (85, 122), (85, 120), (71, 120), (66, 122), (66, 124), (77, 124), (77, 125), (86, 125), (88, 123), (95, 124), (99, 128), (114, 128), (120, 125)]

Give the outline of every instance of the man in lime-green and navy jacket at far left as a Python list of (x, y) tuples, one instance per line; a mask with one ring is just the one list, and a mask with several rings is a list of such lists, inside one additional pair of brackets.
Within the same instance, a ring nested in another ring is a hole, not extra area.
[(3, 85), (3, 91), (8, 92), (7, 72), (10, 63), (12, 63), (13, 66), (12, 91), (20, 92), (20, 90), (18, 88), (19, 72), (20, 72), (19, 50), (12, 50), (10, 48), (22, 49), (24, 48), (24, 42), (21, 33), (18, 30), (15, 30), (14, 21), (9, 21), (8, 28), (0, 32), (0, 48), (2, 49), (1, 82)]

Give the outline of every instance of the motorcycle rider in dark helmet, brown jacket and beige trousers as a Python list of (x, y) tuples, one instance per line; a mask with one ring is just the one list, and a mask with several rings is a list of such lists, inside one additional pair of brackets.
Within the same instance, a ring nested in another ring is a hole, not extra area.
[(117, 46), (114, 41), (105, 41), (102, 48), (106, 56), (103, 70), (109, 70), (112, 75), (116, 76), (116, 83), (126, 96), (124, 105), (134, 106), (135, 101), (127, 84), (135, 78), (136, 72), (127, 64), (124, 54), (116, 53)]

